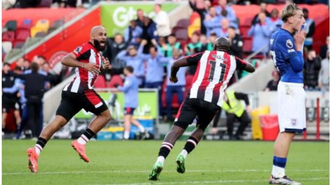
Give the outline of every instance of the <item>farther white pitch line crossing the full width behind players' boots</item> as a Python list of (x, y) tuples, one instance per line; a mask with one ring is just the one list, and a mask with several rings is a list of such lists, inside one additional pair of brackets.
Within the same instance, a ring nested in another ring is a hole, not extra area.
[[(269, 169), (220, 169), (220, 170), (187, 170), (186, 172), (260, 172), (260, 171), (271, 171)], [(289, 171), (329, 171), (328, 169), (292, 169)], [(37, 174), (78, 174), (78, 173), (147, 173), (149, 170), (106, 170), (106, 171), (49, 171), (39, 172)], [(163, 172), (176, 172), (174, 170), (165, 170)], [(24, 175), (32, 174), (31, 172), (9, 172), (2, 173), (2, 175)]]

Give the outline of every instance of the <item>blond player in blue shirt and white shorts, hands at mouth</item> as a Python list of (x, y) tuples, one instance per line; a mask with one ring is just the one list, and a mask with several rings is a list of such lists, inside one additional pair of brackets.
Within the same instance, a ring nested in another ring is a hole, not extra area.
[[(285, 175), (290, 143), (296, 132), (306, 130), (305, 91), (302, 68), (305, 23), (303, 12), (295, 4), (286, 5), (281, 13), (283, 26), (270, 39), (270, 52), (281, 74), (277, 87), (277, 114), (280, 133), (274, 146), (270, 184), (300, 185)], [(294, 35), (294, 36), (293, 36)]]

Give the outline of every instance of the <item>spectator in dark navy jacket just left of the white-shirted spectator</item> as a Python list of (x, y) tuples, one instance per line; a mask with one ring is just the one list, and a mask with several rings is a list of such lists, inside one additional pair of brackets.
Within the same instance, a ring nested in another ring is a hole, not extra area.
[(152, 39), (158, 39), (157, 33), (156, 33), (156, 23), (151, 20), (149, 17), (145, 17), (144, 20), (144, 27), (143, 27), (143, 34), (141, 36), (142, 39), (147, 40), (147, 45), (144, 47), (144, 53), (149, 52), (149, 48), (152, 46), (151, 40)]

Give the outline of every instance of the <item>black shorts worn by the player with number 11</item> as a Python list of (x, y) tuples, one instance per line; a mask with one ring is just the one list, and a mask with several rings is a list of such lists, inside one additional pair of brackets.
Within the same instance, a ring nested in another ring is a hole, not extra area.
[(186, 129), (197, 116), (196, 127), (204, 130), (220, 109), (221, 107), (214, 103), (187, 98), (180, 106), (174, 125)]

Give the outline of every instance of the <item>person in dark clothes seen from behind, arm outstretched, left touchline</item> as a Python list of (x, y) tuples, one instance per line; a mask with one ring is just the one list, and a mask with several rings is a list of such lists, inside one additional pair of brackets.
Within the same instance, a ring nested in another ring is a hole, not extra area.
[(27, 99), (26, 106), (28, 107), (29, 121), (28, 124), (32, 128), (33, 137), (40, 135), (40, 109), (42, 98), (45, 93), (45, 84), (48, 83), (48, 78), (45, 75), (38, 73), (38, 64), (33, 62), (31, 64), (32, 72), (29, 74), (15, 75), (25, 81), (24, 94)]

